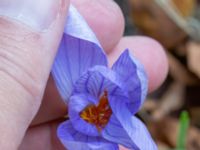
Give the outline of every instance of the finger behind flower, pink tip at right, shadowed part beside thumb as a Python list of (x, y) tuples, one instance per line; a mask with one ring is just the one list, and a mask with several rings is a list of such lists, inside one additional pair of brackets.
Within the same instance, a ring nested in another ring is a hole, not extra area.
[[(161, 85), (168, 70), (167, 59), (162, 46), (155, 40), (147, 37), (122, 38), (115, 50), (108, 57), (110, 64), (113, 64), (113, 62), (117, 60), (120, 53), (125, 48), (129, 48), (133, 52), (133, 55), (135, 55), (145, 66), (150, 83), (149, 91), (153, 91)], [(53, 80), (49, 80), (49, 84), (52, 86), (51, 90), (54, 91), (54, 96), (47, 96), (48, 94), (53, 93), (49, 90), (50, 88), (48, 88), (45, 94), (46, 97), (44, 98), (43, 104), (40, 108), (41, 111), (38, 113), (33, 124), (39, 124), (41, 122), (60, 118), (64, 113), (66, 113), (66, 106), (59, 97), (56, 88), (53, 86)], [(60, 101), (59, 105), (56, 105), (56, 103), (58, 103), (56, 101)], [(63, 106), (65, 108), (63, 108)], [(46, 111), (42, 111), (43, 109)]]

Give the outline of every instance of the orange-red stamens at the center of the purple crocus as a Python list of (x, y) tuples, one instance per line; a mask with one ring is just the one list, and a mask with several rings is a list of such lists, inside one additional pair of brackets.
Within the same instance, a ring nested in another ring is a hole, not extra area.
[(104, 91), (98, 106), (89, 105), (80, 113), (83, 120), (95, 125), (99, 131), (107, 125), (111, 115), (112, 110), (109, 106), (107, 91)]

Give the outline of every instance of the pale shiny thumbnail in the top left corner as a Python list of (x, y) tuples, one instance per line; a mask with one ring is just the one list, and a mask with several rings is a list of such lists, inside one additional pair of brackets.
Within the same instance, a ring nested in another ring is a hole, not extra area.
[(36, 30), (47, 29), (65, 0), (0, 0), (0, 16), (16, 19)]

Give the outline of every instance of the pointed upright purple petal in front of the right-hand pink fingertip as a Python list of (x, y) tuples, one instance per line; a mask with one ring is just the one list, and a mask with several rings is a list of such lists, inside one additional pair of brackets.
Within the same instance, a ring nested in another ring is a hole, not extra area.
[(128, 91), (132, 113), (139, 110), (147, 94), (147, 76), (144, 67), (125, 50), (112, 69), (121, 77), (123, 88)]

